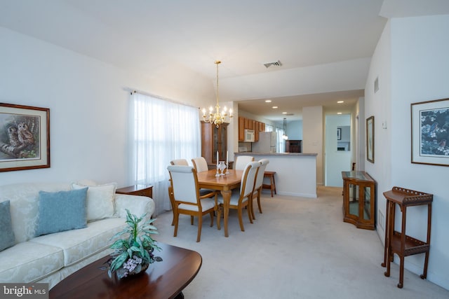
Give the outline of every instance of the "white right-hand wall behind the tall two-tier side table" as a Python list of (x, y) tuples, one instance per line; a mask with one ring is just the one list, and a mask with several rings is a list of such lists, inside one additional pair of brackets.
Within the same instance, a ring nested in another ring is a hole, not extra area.
[[(389, 20), (377, 45), (366, 83), (366, 117), (375, 116), (375, 164), (366, 170), (377, 180), (377, 207), (384, 213), (382, 192), (401, 186), (434, 195), (427, 279), (449, 289), (448, 167), (410, 162), (410, 104), (449, 95), (449, 15)], [(373, 92), (379, 76), (380, 90)], [(387, 129), (382, 129), (382, 121)], [(396, 216), (396, 227), (400, 221)], [(377, 225), (383, 240), (384, 231)], [(407, 211), (407, 235), (425, 239), (424, 207)], [(422, 274), (424, 255), (409, 256), (405, 267)]]

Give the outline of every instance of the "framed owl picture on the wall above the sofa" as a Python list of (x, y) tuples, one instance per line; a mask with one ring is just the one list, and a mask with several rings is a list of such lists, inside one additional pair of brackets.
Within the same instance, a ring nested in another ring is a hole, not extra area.
[(50, 109), (0, 103), (0, 172), (50, 167)]

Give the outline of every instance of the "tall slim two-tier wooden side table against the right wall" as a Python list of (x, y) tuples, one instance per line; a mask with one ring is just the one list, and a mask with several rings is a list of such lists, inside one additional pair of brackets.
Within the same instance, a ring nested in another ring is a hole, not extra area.
[[(418, 253), (425, 253), (424, 271), (420, 277), (422, 279), (427, 277), (427, 263), (429, 263), (429, 249), (430, 249), (430, 225), (431, 225), (431, 208), (434, 195), (422, 193), (419, 191), (408, 190), (406, 188), (393, 187), (393, 189), (384, 192), (387, 198), (387, 218), (385, 224), (385, 249), (384, 249), (384, 263), (382, 267), (387, 267), (384, 272), (386, 277), (390, 276), (390, 263), (393, 260), (393, 255), (396, 253), (399, 256), (399, 283), (398, 288), (403, 287), (404, 278), (404, 258), (406, 256), (413, 256)], [(396, 204), (401, 208), (402, 225), (401, 232), (394, 230), (394, 216), (396, 214)], [(427, 204), (427, 240), (420, 241), (406, 235), (406, 214), (407, 207)]]

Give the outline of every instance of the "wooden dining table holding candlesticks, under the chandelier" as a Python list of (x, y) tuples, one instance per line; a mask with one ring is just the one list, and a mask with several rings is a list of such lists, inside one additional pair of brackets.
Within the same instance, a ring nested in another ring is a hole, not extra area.
[[(243, 170), (225, 169), (225, 172), (229, 173), (216, 176), (216, 169), (210, 169), (207, 172), (199, 172), (198, 184), (199, 188), (219, 190), (223, 196), (223, 222), (225, 226), (225, 237), (228, 237), (227, 222), (229, 216), (229, 202), (231, 202), (232, 189), (240, 187)], [(220, 230), (220, 219), (217, 221), (217, 228)]]

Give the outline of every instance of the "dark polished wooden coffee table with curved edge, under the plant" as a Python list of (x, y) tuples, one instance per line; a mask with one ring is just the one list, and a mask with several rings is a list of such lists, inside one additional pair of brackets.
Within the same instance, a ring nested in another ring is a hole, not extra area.
[(147, 272), (121, 280), (110, 279), (105, 264), (109, 256), (81, 268), (51, 288), (50, 298), (184, 298), (182, 290), (201, 268), (201, 255), (189, 249), (158, 244), (163, 261), (149, 265)]

